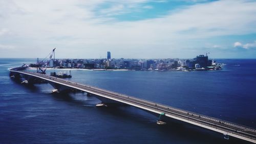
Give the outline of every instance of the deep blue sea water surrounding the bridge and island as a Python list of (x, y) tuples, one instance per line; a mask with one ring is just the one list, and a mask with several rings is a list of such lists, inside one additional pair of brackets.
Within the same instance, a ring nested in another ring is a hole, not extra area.
[[(98, 108), (86, 93), (53, 95), (49, 84), (9, 78), (8, 68), (34, 61), (0, 58), (0, 143), (249, 143), (176, 120), (159, 126), (133, 107)], [(72, 70), (70, 80), (256, 128), (256, 59), (217, 61), (223, 70)]]

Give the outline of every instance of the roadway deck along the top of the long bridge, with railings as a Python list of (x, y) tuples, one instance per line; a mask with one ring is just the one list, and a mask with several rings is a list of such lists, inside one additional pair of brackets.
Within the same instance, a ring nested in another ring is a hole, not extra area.
[[(17, 71), (17, 72), (20, 72), (20, 71)], [(24, 71), (22, 71), (22, 72), (24, 72)], [(28, 72), (30, 74), (37, 75), (37, 76), (41, 75), (41, 76), (52, 77), (52, 76), (49, 76), (49, 75), (46, 75), (46, 74), (38, 74), (38, 73), (35, 73), (35, 72), (29, 72), (29, 71), (26, 71), (26, 72)], [(239, 129), (242, 129), (242, 130), (256, 132), (255, 129), (252, 129), (252, 128), (247, 127), (247, 126), (237, 125), (237, 124), (234, 124), (233, 122), (229, 122), (229, 121), (221, 120), (221, 119), (218, 119), (218, 118), (214, 118), (214, 117), (210, 117), (210, 116), (206, 116), (206, 115), (202, 115), (202, 114), (197, 114), (197, 113), (194, 113), (194, 112), (190, 112), (190, 111), (186, 111), (186, 110), (170, 107), (170, 106), (167, 106), (167, 105), (159, 104), (159, 103), (154, 102), (154, 101), (145, 100), (145, 99), (142, 99), (142, 98), (137, 98), (137, 97), (126, 95), (126, 94), (120, 94), (118, 92), (113, 92), (113, 91), (109, 91), (109, 90), (105, 90), (105, 89), (97, 88), (97, 87), (92, 87), (92, 86), (88, 86), (88, 85), (84, 85), (84, 84), (80, 84), (80, 83), (74, 83), (72, 81), (64, 80), (62, 78), (56, 78), (56, 77), (52, 77), (52, 78), (61, 80), (61, 81), (66, 82), (66, 83), (68, 82), (68, 83), (71, 83), (71, 84), (80, 85), (82, 87), (87, 87), (87, 88), (90, 88), (90, 89), (96, 89), (96, 90), (108, 92), (108, 93), (111, 93), (111, 94), (115, 94), (115, 95), (118, 95), (118, 96), (121, 96), (121, 97), (134, 99), (134, 100), (143, 102), (143, 103), (148, 104), (148, 105), (153, 105), (153, 106), (156, 106), (156, 107), (165, 108), (167, 110), (173, 110), (173, 111), (176, 111), (176, 112), (179, 112), (179, 113), (182, 113), (182, 114), (187, 114), (187, 115), (190, 115), (190, 116), (195, 116), (195, 117), (198, 117), (198, 118), (203, 118), (203, 119), (207, 119), (207, 120), (210, 120), (210, 121), (219, 122), (220, 124), (224, 124), (224, 125), (227, 125), (227, 126), (239, 128)]]

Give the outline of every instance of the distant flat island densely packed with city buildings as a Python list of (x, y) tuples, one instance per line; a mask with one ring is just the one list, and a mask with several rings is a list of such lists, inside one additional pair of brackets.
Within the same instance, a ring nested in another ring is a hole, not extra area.
[(111, 58), (110, 52), (107, 53), (107, 58), (55, 59), (50, 57), (47, 62), (44, 60), (39, 61), (37, 58), (37, 63), (29, 65), (30, 68), (143, 71), (207, 71), (221, 70), (222, 66), (223, 64), (219, 64), (213, 59), (208, 59), (207, 53), (193, 59), (117, 59)]

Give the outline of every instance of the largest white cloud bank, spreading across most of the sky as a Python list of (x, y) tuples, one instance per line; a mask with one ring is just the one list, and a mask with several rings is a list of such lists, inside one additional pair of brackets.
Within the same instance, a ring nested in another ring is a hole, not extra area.
[[(116, 52), (116, 57), (182, 57), (190, 47), (196, 52), (195, 45), (199, 44), (192, 43), (193, 39), (256, 33), (256, 2), (252, 1), (197, 4), (133, 22), (111, 17), (140, 9), (140, 4), (146, 2), (0, 0), (0, 30), (12, 33), (5, 37), (5, 44), (23, 50), (37, 48), (38, 57), (44, 57), (44, 50), (55, 46), (61, 57), (99, 57), (108, 50)], [(95, 13), (103, 3), (114, 3), (109, 9), (99, 10), (110, 17)]]

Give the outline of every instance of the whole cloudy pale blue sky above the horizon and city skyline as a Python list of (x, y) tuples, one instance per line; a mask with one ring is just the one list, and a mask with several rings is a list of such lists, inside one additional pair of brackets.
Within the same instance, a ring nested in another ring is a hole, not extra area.
[(256, 1), (0, 0), (0, 57), (256, 58)]

